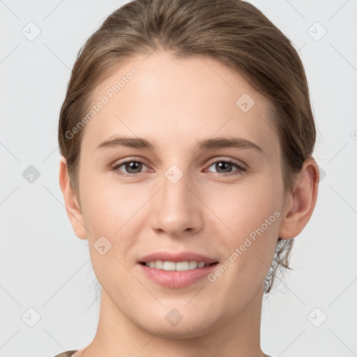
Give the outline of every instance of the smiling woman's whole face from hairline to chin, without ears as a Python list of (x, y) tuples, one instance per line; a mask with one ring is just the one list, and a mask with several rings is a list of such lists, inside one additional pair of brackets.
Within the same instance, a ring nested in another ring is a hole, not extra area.
[(144, 59), (93, 93), (104, 104), (82, 129), (86, 238), (112, 319), (199, 336), (261, 301), (284, 206), (280, 144), (270, 103), (235, 71)]

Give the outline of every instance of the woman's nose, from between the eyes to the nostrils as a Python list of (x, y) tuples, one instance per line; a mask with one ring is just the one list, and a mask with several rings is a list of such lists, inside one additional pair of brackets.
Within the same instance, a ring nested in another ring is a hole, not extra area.
[(200, 231), (203, 207), (196, 191), (194, 181), (187, 174), (183, 174), (177, 182), (164, 175), (162, 188), (151, 202), (151, 227), (158, 234), (165, 232), (175, 238)]

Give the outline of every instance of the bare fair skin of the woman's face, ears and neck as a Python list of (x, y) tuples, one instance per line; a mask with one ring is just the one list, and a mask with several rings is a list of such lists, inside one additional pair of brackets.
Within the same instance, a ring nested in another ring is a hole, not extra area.
[[(93, 93), (94, 104), (137, 68), (83, 129), (79, 197), (61, 159), (68, 217), (75, 234), (89, 241), (102, 286), (96, 336), (74, 356), (160, 357), (169, 351), (173, 357), (263, 357), (264, 278), (278, 236), (294, 238), (310, 219), (319, 182), (316, 162), (305, 160), (296, 190), (284, 192), (279, 138), (264, 96), (213, 59), (176, 59), (160, 51), (145, 58), (121, 64)], [(255, 100), (248, 112), (236, 105), (243, 93)], [(116, 135), (145, 138), (155, 150), (96, 150)], [(241, 137), (262, 151), (195, 149), (199, 141), (216, 137)], [(113, 169), (126, 158), (143, 162), (142, 174), (125, 165)], [(229, 159), (246, 170), (215, 165)], [(183, 173), (177, 183), (165, 176), (171, 165)], [(158, 250), (198, 252), (224, 263), (275, 211), (280, 217), (215, 282), (203, 278), (189, 287), (167, 288), (139, 269), (137, 259)], [(93, 248), (100, 236), (112, 244), (105, 255)], [(176, 326), (165, 319), (172, 308), (183, 316)]]

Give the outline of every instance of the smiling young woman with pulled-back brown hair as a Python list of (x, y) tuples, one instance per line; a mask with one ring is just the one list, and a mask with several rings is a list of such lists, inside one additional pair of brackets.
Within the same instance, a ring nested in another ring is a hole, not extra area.
[(60, 185), (102, 287), (61, 356), (268, 356), (263, 294), (317, 200), (301, 60), (240, 0), (136, 0), (75, 62)]

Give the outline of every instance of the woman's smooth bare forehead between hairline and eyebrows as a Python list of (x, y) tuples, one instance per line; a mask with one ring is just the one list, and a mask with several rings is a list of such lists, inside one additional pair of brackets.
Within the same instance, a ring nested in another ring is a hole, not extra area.
[(268, 99), (235, 70), (201, 56), (132, 57), (97, 86), (91, 102), (105, 104), (86, 124), (89, 147), (114, 135), (146, 137), (163, 148), (231, 134), (259, 146), (278, 141)]

